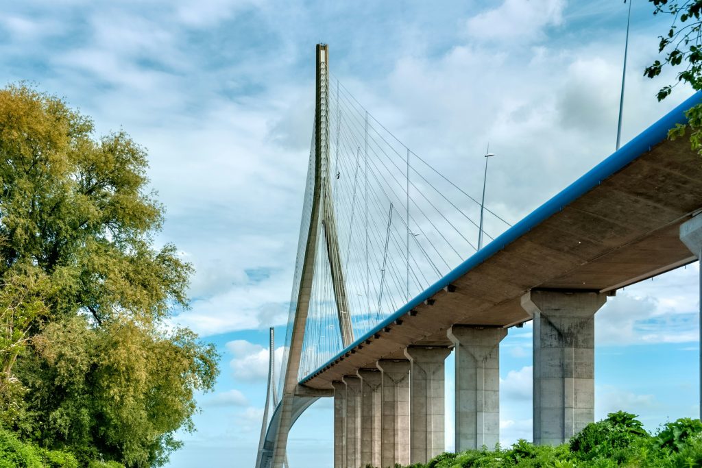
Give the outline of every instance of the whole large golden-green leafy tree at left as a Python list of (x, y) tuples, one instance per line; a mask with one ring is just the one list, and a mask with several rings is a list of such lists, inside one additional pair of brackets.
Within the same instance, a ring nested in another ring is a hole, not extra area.
[(154, 246), (164, 207), (145, 150), (93, 132), (58, 98), (0, 90), (0, 370), (23, 396), (0, 419), (84, 464), (159, 466), (193, 429), (218, 355), (166, 323), (188, 305), (192, 267)]

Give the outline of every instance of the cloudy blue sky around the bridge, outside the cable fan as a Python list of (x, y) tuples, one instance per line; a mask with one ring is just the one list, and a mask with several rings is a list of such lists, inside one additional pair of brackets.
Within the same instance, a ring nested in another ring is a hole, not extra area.
[[(644, 78), (669, 18), (633, 0), (622, 141), (691, 94)], [(267, 330), (281, 353), (314, 114), (314, 45), (392, 133), (510, 222), (614, 151), (628, 4), (618, 0), (0, 0), (0, 81), (30, 81), (124, 129), (167, 209), (158, 243), (197, 273), (189, 326), (223, 354), (197, 432), (168, 467), (251, 466)], [(597, 312), (596, 417), (648, 429), (698, 415), (698, 266), (618, 291)], [(278, 359), (280, 361), (280, 359)], [(451, 449), (452, 357), (446, 360)], [(531, 439), (531, 326), (501, 347), (501, 441)], [(332, 462), (331, 401), (289, 440), (292, 467)]]

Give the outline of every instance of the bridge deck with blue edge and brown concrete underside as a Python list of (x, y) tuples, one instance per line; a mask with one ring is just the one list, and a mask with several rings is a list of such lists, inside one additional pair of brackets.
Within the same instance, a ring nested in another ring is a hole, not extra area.
[(692, 96), (300, 383), (331, 388), (408, 345), (447, 345), (454, 323), (528, 321), (519, 303), (532, 288), (607, 292), (693, 262), (678, 229), (702, 208), (702, 159), (687, 138), (666, 135), (701, 100)]

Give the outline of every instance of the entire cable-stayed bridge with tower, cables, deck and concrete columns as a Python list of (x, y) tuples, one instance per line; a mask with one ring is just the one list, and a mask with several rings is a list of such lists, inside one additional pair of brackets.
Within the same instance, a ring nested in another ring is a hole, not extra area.
[(335, 467), (441, 453), (451, 349), (456, 450), (494, 446), (499, 343), (530, 320), (534, 442), (567, 441), (594, 420), (595, 312), (701, 255), (702, 163), (667, 134), (702, 96), (510, 226), (395, 138), (329, 73), (328, 54), (317, 46), (286, 354), (257, 467), (287, 465), (289, 429), (320, 397), (334, 399)]

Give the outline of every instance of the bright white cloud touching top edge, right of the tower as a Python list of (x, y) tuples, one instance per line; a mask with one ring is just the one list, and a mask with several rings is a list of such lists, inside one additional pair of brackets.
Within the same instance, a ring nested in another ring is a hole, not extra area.
[(540, 39), (543, 29), (563, 22), (564, 0), (505, 0), (501, 6), (473, 16), (468, 35), (478, 41)]

